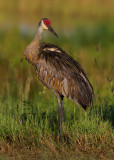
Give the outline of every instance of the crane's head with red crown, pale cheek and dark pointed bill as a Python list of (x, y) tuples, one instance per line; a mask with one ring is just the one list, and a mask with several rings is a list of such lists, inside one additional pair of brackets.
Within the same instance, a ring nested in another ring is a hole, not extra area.
[(55, 31), (51, 27), (51, 21), (48, 18), (41, 19), (38, 26), (42, 27), (43, 30), (49, 30), (51, 33), (53, 33), (58, 38), (58, 35), (55, 33)]

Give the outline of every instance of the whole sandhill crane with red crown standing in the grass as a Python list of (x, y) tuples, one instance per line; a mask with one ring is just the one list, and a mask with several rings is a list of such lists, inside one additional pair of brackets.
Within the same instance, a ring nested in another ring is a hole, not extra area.
[(67, 97), (85, 110), (92, 107), (93, 87), (84, 69), (65, 51), (56, 45), (40, 43), (43, 30), (49, 30), (56, 37), (51, 21), (43, 18), (33, 41), (24, 50), (25, 58), (34, 66), (39, 80), (52, 89), (57, 97), (59, 110), (59, 141), (62, 142), (63, 98)]

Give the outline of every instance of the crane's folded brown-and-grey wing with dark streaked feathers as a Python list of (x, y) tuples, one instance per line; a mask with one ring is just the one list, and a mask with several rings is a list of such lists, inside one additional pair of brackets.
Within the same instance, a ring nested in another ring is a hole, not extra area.
[(91, 105), (93, 88), (80, 64), (55, 45), (41, 45), (36, 72), (42, 83), (83, 107)]

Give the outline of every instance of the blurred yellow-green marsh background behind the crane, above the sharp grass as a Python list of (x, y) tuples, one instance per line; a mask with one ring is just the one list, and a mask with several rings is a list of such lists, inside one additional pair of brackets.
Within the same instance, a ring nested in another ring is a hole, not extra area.
[[(95, 92), (112, 95), (114, 86), (113, 0), (1, 0), (0, 96), (4, 99), (50, 97), (37, 80), (23, 51), (42, 18), (59, 35), (43, 33), (42, 41), (60, 46), (85, 69)], [(7, 98), (6, 98), (7, 97)]]

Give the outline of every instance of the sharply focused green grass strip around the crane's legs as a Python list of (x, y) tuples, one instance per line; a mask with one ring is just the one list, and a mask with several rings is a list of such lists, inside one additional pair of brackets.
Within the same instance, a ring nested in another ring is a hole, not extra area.
[[(48, 100), (45, 95), (41, 100), (15, 101), (2, 99), (0, 103), (0, 139), (16, 146), (29, 148), (43, 148), (47, 146), (49, 152), (55, 150), (57, 157), (66, 156), (59, 146), (58, 108), (55, 98)], [(114, 101), (103, 103), (94, 102), (92, 111), (64, 101), (63, 139), (64, 148), (69, 152), (79, 150), (88, 155), (96, 154), (104, 157), (111, 156), (114, 131)], [(110, 97), (108, 97), (110, 98)], [(102, 100), (102, 99), (101, 99)], [(45, 149), (44, 149), (45, 150)], [(79, 152), (78, 151), (78, 152)], [(46, 152), (47, 153), (47, 152)], [(72, 155), (72, 154), (71, 154)], [(53, 157), (53, 156), (52, 156)]]

